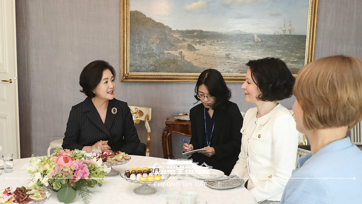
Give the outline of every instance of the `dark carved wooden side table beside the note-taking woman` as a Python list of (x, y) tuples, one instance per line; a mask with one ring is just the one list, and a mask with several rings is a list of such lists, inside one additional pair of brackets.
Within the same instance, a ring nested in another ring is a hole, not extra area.
[[(185, 135), (190, 137), (191, 136), (191, 122), (190, 121), (184, 121), (184, 120), (178, 120), (174, 117), (177, 117), (178, 115), (172, 115), (168, 118), (166, 118), (166, 127), (163, 129), (162, 132), (162, 150), (163, 150), (163, 156), (166, 157), (167, 155), (172, 155), (172, 137), (171, 134), (173, 132), (176, 132), (181, 135)], [(167, 144), (168, 144), (168, 150), (167, 151)]]

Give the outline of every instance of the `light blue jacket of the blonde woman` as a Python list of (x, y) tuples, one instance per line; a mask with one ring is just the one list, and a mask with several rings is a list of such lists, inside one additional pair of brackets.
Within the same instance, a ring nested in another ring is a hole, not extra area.
[(362, 151), (346, 137), (298, 159), (281, 204), (362, 203)]

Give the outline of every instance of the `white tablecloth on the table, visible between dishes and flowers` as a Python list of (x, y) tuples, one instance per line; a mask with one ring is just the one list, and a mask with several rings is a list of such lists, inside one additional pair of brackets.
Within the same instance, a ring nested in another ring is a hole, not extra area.
[[(155, 158), (155, 157), (146, 157), (146, 156), (131, 156), (132, 159), (130, 162), (114, 166), (113, 168), (118, 171), (124, 171), (129, 168), (137, 167), (148, 167), (153, 166), (153, 164), (158, 163), (161, 166), (163, 162), (167, 162), (167, 159)], [(21, 187), (22, 185), (27, 184), (27, 178), (29, 174), (25, 170), (21, 170), (21, 167), (28, 163), (30, 158), (24, 159), (15, 159), (14, 160), (14, 171), (12, 173), (0, 173), (0, 189), (7, 187)], [(198, 193), (197, 203), (205, 204), (207, 201), (208, 204), (232, 204), (232, 203), (243, 203), (243, 204), (256, 204), (256, 200), (251, 193), (244, 186), (239, 186), (237, 188), (226, 189), (226, 190), (216, 190), (211, 189), (203, 185), (203, 180), (195, 179), (190, 175), (186, 174), (186, 180), (179, 181), (176, 180), (176, 176), (171, 176), (168, 180), (158, 183), (155, 185), (150, 185), (153, 188), (157, 189), (157, 192), (152, 195), (138, 195), (133, 192), (133, 189), (139, 187), (140, 184), (130, 183), (126, 180), (123, 180), (121, 176), (114, 176), (106, 178), (103, 181), (102, 187), (89, 188), (93, 193), (91, 194), (92, 200), (90, 203), (133, 203), (133, 204), (164, 204), (165, 200), (165, 190), (174, 189), (180, 191), (194, 191)], [(56, 198), (56, 193), (52, 191), (51, 198), (46, 202), (47, 204), (60, 202)], [(73, 200), (72, 203), (82, 203), (82, 199), (77, 193), (77, 197)]]

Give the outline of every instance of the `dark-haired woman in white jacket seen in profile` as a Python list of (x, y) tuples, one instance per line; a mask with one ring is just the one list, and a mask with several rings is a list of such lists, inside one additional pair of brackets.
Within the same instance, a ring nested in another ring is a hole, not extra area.
[(231, 175), (247, 180), (245, 187), (258, 202), (279, 203), (295, 168), (299, 139), (294, 118), (276, 101), (292, 95), (295, 78), (278, 58), (251, 60), (246, 65), (249, 69), (241, 87), (245, 101), (257, 107), (245, 114), (241, 152)]

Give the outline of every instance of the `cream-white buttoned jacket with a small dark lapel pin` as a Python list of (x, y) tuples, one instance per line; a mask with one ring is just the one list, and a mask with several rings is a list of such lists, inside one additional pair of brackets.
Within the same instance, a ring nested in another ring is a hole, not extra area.
[(280, 201), (295, 169), (298, 131), (290, 111), (278, 104), (256, 118), (257, 108), (244, 117), (241, 151), (231, 174), (248, 181), (248, 190), (258, 202)]

